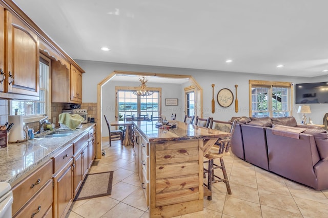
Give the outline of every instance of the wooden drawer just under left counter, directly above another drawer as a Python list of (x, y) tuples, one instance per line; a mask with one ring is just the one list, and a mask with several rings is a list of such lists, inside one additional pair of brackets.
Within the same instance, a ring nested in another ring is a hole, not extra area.
[(35, 193), (52, 178), (52, 160), (39, 167), (34, 173), (12, 188), (14, 202), (12, 214), (15, 214), (26, 204)]

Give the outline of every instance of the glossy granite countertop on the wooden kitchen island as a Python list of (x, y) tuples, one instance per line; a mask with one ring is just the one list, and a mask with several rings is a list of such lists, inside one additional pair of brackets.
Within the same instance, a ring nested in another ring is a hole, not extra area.
[(141, 134), (147, 137), (149, 142), (178, 141), (199, 138), (219, 138), (230, 136), (230, 133), (228, 132), (198, 127), (196, 125), (178, 121), (176, 122), (177, 128), (172, 129), (158, 128), (155, 125), (156, 121), (138, 121), (133, 123), (134, 127)]

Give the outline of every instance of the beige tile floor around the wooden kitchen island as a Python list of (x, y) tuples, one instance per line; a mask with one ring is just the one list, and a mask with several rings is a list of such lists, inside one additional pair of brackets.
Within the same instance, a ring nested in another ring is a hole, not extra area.
[[(90, 171), (114, 171), (112, 195), (73, 202), (66, 218), (149, 217), (140, 187), (132, 147), (103, 140), (106, 155)], [(213, 184), (212, 201), (204, 210), (186, 217), (328, 217), (328, 189), (316, 191), (244, 162), (231, 154), (224, 157), (232, 195), (224, 183)]]

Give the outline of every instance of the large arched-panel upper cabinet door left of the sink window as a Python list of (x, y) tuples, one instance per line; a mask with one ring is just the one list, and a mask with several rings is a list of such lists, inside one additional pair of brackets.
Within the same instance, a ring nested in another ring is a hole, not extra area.
[(5, 69), (7, 92), (38, 97), (38, 37), (23, 21), (7, 10), (5, 13), (8, 21), (6, 27), (7, 67)]

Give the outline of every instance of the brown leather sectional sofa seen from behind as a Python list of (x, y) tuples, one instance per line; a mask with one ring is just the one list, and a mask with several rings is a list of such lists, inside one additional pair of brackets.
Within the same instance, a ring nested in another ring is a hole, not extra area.
[(294, 117), (237, 119), (231, 142), (239, 158), (317, 190), (328, 189), (328, 133)]

